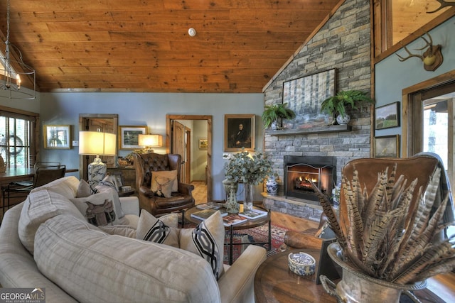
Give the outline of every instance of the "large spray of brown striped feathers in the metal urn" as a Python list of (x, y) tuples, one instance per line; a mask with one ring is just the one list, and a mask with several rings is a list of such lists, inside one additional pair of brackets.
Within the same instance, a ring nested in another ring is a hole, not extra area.
[[(436, 241), (434, 237), (446, 227), (441, 219), (449, 198), (447, 194), (432, 213), (440, 168), (424, 191), (416, 190), (417, 179), (409, 185), (402, 175), (396, 179), (396, 169), (397, 165), (390, 176), (388, 168), (378, 173), (370, 193), (366, 187), (362, 189), (357, 170), (353, 180), (343, 177), (344, 221), (338, 219), (328, 197), (315, 185), (313, 188), (347, 261), (365, 275), (405, 285), (454, 269), (455, 241)], [(414, 192), (417, 203), (411, 205)]]

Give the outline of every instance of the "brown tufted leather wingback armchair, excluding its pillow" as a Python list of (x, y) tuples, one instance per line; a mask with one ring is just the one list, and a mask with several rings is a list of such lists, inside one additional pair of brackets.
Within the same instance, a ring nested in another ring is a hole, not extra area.
[[(192, 191), (194, 186), (180, 182), (181, 155), (134, 153), (136, 168), (136, 187), (139, 192), (139, 206), (154, 216), (168, 214), (172, 211), (183, 211), (194, 206)], [(157, 197), (151, 191), (151, 179), (154, 172), (177, 170), (178, 191), (172, 192), (170, 198)]]

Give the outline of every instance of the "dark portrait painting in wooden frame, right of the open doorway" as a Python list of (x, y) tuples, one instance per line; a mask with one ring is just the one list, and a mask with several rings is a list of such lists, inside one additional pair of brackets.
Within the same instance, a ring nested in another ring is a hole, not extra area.
[(255, 150), (255, 114), (225, 115), (225, 151)]

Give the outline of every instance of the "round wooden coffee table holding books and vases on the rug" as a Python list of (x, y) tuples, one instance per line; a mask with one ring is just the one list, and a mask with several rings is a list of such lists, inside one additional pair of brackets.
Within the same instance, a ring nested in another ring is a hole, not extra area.
[[(261, 206), (253, 206), (253, 209), (259, 209), (261, 211), (267, 211), (267, 216), (262, 216), (258, 219), (248, 219), (245, 222), (242, 222), (240, 224), (235, 224), (231, 226), (225, 226), (225, 231), (229, 231), (229, 242), (225, 243), (225, 245), (229, 246), (229, 264), (232, 265), (232, 251), (235, 245), (248, 245), (248, 244), (255, 244), (255, 245), (262, 245), (262, 244), (268, 244), (268, 249), (272, 248), (272, 228), (271, 228), (271, 221), (270, 221), (270, 211), (267, 209), (264, 209)], [(201, 220), (193, 218), (191, 214), (193, 214), (196, 211), (200, 211), (200, 209), (197, 208), (197, 206), (191, 207), (191, 209), (187, 209), (184, 214), (184, 219), (186, 222), (191, 222), (193, 224), (199, 224)], [(243, 211), (243, 204), (240, 204), (240, 212)], [(268, 242), (252, 242), (252, 243), (233, 243), (232, 239), (234, 238), (234, 231), (241, 230), (241, 229), (248, 229), (248, 228), (254, 228), (257, 226), (262, 226), (264, 224), (269, 225), (269, 241)]]

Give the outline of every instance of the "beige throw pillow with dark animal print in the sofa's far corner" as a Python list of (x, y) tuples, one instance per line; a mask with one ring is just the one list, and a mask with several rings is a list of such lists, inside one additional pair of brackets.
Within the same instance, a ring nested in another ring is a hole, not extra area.
[(85, 198), (73, 198), (70, 201), (85, 216), (85, 219), (95, 226), (121, 224), (112, 192), (99, 192)]

